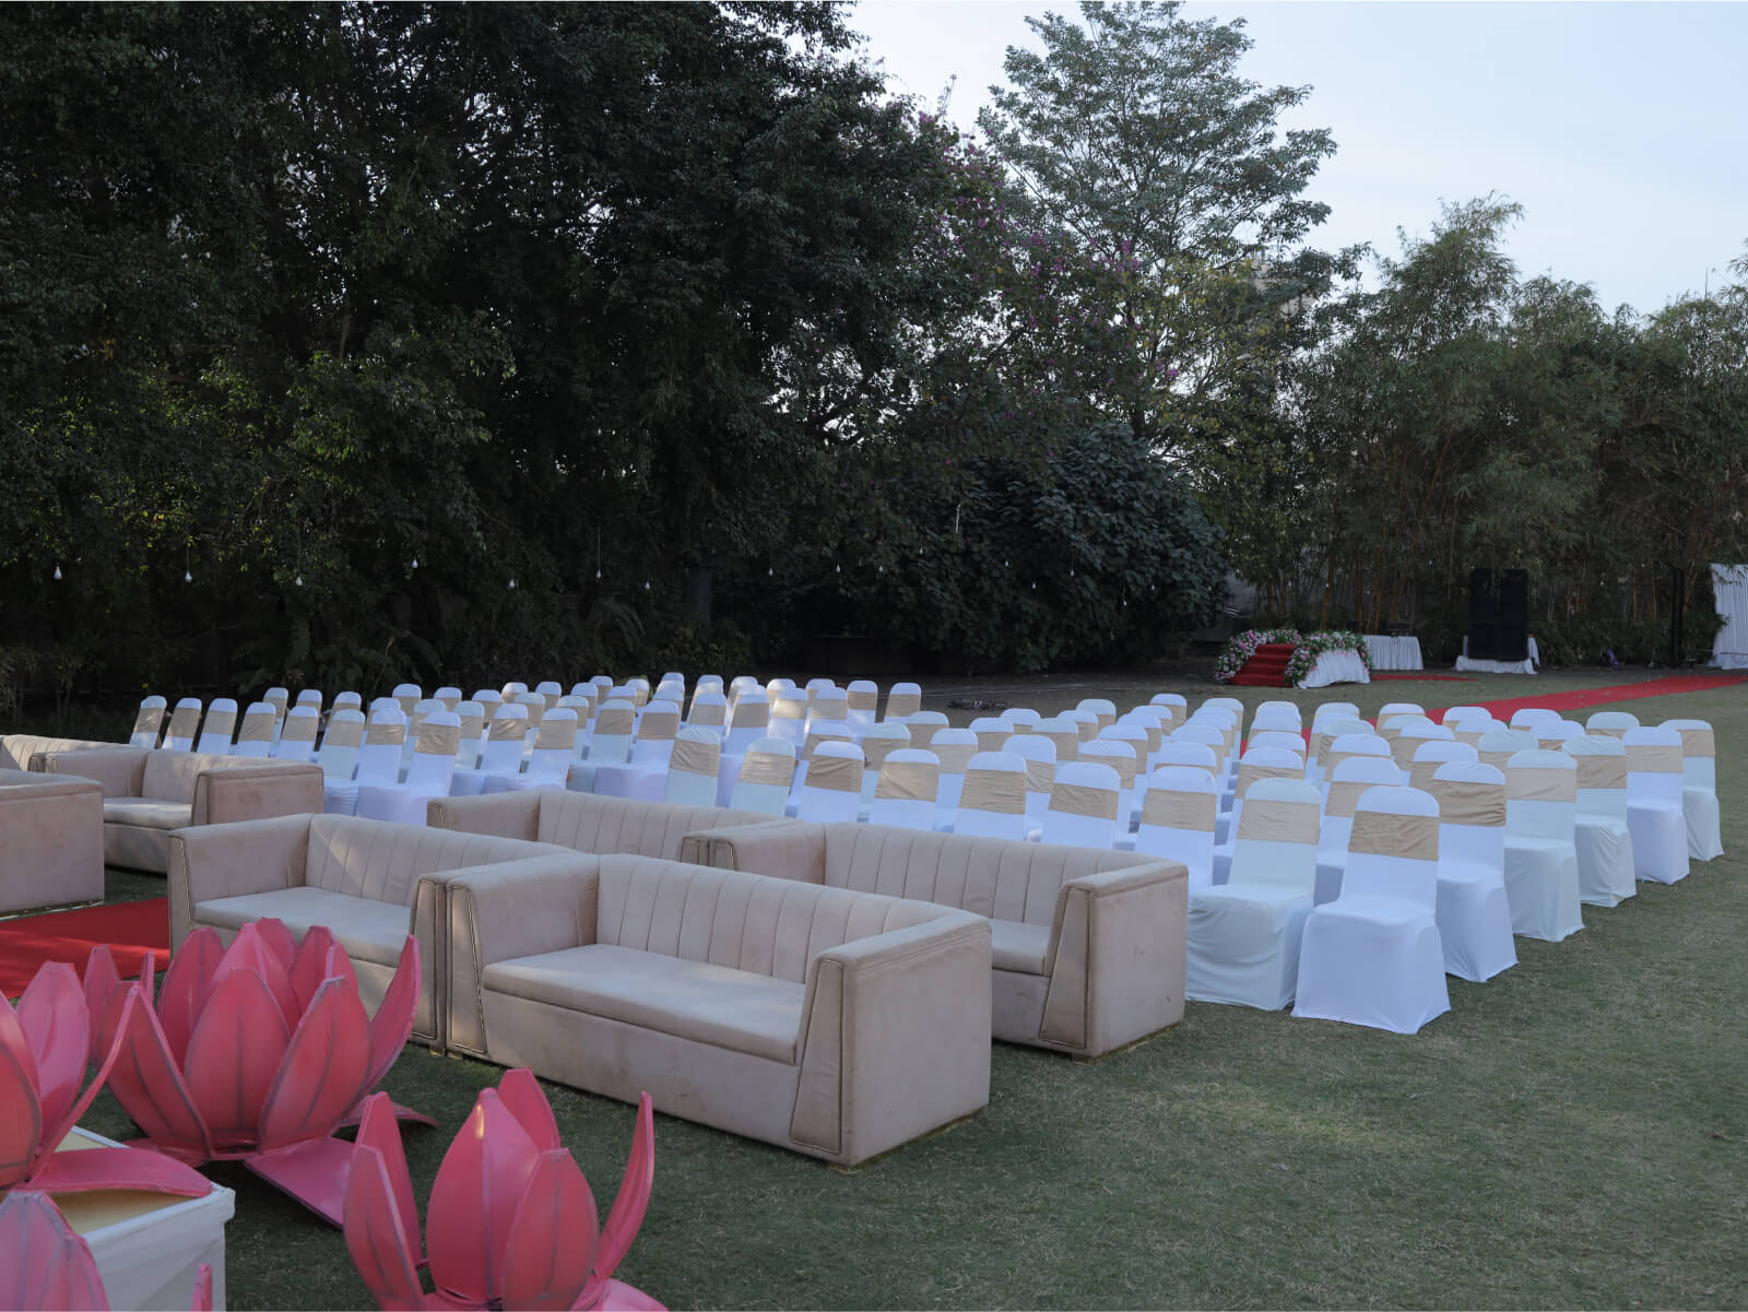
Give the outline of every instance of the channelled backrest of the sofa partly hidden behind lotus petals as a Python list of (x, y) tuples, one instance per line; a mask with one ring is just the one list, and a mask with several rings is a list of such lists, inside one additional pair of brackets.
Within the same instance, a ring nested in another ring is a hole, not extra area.
[(540, 844), (484, 833), (390, 825), (357, 816), (311, 816), (304, 884), (353, 898), (411, 907), (423, 875), (493, 861), (519, 861), (551, 851)]

